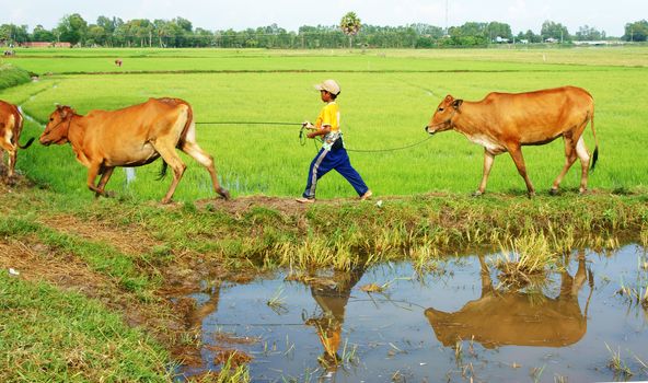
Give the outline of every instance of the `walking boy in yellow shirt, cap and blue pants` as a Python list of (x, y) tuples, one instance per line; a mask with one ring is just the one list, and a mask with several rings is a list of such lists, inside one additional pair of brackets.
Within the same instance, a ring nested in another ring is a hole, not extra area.
[(342, 131), (339, 130), (339, 107), (335, 101), (340, 92), (339, 85), (335, 80), (326, 80), (315, 85), (315, 89), (320, 91), (322, 101), (326, 105), (320, 112), (315, 125), (305, 121), (304, 127), (312, 130), (308, 135), (309, 138), (323, 136), (322, 149), (311, 162), (306, 188), (302, 197), (297, 198), (297, 201), (301, 204), (314, 202), (317, 179), (334, 169), (354, 186), (361, 200), (368, 199), (372, 193), (360, 174), (351, 166), (349, 155), (343, 143)]

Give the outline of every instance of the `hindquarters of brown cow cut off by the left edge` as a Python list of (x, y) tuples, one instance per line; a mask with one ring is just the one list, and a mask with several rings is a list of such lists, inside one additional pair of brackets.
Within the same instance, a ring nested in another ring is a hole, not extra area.
[[(20, 135), (23, 130), (23, 116), (13, 104), (0, 101), (0, 147), (9, 153), (9, 166), (7, 176), (12, 177), (15, 171), (15, 160), (18, 156), (18, 149), (27, 149), (34, 138), (31, 138), (27, 143), (21, 146), (19, 143)], [(0, 163), (3, 163), (4, 152), (0, 150)]]

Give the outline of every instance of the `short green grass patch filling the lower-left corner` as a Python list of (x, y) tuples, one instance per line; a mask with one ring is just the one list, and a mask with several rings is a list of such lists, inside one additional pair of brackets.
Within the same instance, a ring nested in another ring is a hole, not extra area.
[(167, 352), (119, 314), (0, 272), (0, 381), (166, 382)]

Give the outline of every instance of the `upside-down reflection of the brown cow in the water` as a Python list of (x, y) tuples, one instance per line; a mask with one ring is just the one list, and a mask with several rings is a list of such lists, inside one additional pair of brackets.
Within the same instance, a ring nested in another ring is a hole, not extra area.
[[(578, 270), (574, 277), (567, 271), (560, 275), (560, 294), (557, 298), (498, 291), (493, 287), (483, 257), (479, 257), (479, 299), (467, 302), (454, 313), (431, 307), (425, 311), (443, 346), (453, 346), (458, 339), (473, 338), (486, 348), (507, 345), (564, 347), (582, 338), (587, 330), (587, 304), (582, 314), (578, 291), (587, 280), (583, 255), (578, 258)], [(590, 288), (593, 290), (591, 271)]]

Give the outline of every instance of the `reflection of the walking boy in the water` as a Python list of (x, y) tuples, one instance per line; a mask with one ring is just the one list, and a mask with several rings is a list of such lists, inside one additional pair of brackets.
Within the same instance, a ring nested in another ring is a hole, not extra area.
[(324, 346), (324, 353), (319, 360), (328, 368), (335, 369), (340, 361), (337, 350), (342, 337), (345, 307), (351, 295), (351, 289), (363, 274), (364, 268), (360, 267), (351, 271), (335, 271), (335, 287), (311, 286), (311, 294), (323, 313), (320, 317), (309, 318), (306, 325), (315, 326), (317, 337)]

